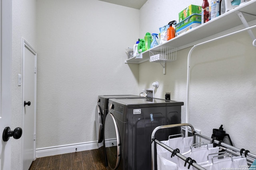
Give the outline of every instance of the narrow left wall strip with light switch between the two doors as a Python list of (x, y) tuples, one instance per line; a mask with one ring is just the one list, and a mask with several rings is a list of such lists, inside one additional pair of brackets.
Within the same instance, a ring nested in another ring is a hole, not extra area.
[[(22, 38), (36, 49), (36, 1), (12, 0), (12, 125), (22, 127), (22, 86), (18, 86), (18, 74), (22, 69)], [(11, 169), (22, 169), (22, 140), (12, 142)]]

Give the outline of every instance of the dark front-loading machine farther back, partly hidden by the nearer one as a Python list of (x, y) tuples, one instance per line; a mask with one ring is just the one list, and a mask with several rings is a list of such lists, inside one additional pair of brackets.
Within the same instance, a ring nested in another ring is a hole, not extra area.
[(104, 122), (108, 113), (108, 100), (111, 98), (144, 98), (135, 95), (100, 95), (95, 111), (96, 137), (98, 140), (99, 154), (102, 162), (108, 166), (104, 143)]

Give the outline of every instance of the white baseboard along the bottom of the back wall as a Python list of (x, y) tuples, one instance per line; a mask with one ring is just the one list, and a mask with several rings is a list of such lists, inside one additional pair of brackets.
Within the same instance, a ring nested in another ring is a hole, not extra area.
[(36, 149), (36, 158), (41, 158), (45, 156), (53, 156), (57, 154), (66, 154), (71, 152), (79, 152), (84, 150), (98, 149), (103, 144), (98, 144), (97, 141), (85, 142), (85, 143), (75, 143), (70, 145), (61, 145), (55, 147), (46, 147)]

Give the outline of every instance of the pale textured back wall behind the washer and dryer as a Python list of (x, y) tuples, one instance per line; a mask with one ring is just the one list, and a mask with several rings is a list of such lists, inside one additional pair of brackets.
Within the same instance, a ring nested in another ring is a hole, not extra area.
[[(98, 0), (37, 0), (36, 148), (96, 141), (98, 95), (139, 94), (139, 10)], [(75, 150), (74, 150), (75, 151)]]

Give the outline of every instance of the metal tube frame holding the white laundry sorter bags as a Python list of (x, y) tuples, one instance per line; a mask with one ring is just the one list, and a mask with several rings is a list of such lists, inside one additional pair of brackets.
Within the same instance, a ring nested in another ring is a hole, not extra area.
[[(151, 134), (151, 158), (152, 158), (152, 170), (155, 170), (155, 145), (154, 145), (154, 142), (157, 143), (158, 145), (160, 145), (161, 147), (164, 147), (165, 149), (169, 150), (170, 152), (172, 152), (172, 155), (176, 155), (178, 156), (179, 158), (181, 158), (182, 160), (184, 160), (185, 162), (187, 162), (189, 165), (191, 166), (194, 166), (195, 168), (197, 168), (198, 170), (206, 170), (205, 168), (202, 168), (201, 166), (199, 166), (198, 164), (196, 164), (196, 162), (194, 162), (194, 160), (191, 160), (191, 159), (188, 159), (186, 158), (185, 156), (183, 156), (182, 154), (180, 154), (177, 149), (172, 149), (170, 147), (168, 147), (167, 145), (164, 145), (161, 141), (158, 141), (158, 139), (156, 139), (154, 137), (156, 131), (158, 131), (159, 129), (165, 129), (165, 128), (172, 128), (172, 127), (182, 127), (182, 126), (189, 126), (191, 127), (191, 131), (192, 131), (192, 135), (193, 135), (193, 141), (195, 143), (195, 137), (201, 137), (202, 139), (206, 139), (212, 143), (216, 143), (218, 144), (218, 146), (221, 148), (221, 149), (224, 149), (226, 150), (226, 152), (229, 152), (233, 155), (236, 155), (236, 156), (242, 156), (242, 157), (245, 157), (248, 164), (252, 164), (252, 162), (256, 159), (256, 155), (255, 154), (252, 154), (250, 153), (249, 150), (245, 150), (245, 149), (238, 149), (236, 147), (233, 147), (231, 145), (228, 145), (226, 143), (222, 143), (222, 141), (218, 141), (216, 139), (212, 139), (210, 137), (206, 137), (204, 135), (201, 135), (200, 133), (196, 133), (194, 131), (194, 127), (190, 124), (190, 123), (180, 123), (180, 124), (173, 124), (173, 125), (162, 125), (162, 126), (158, 126), (156, 127), (152, 134)], [(244, 155), (242, 155), (244, 154)]]

